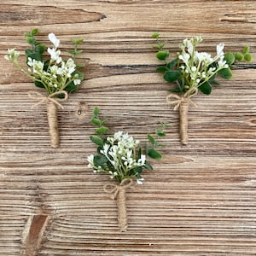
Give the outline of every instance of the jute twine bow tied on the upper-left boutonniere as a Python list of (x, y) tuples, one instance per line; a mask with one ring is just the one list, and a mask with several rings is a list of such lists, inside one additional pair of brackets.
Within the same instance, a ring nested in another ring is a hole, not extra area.
[[(55, 96), (61, 96), (65, 95), (64, 98), (56, 98)], [(38, 100), (39, 102), (34, 104), (32, 108), (36, 108), (38, 105), (47, 103), (47, 102), (54, 102), (59, 108), (64, 109), (64, 107), (61, 105), (60, 102), (66, 102), (68, 99), (68, 94), (66, 90), (58, 90), (52, 93), (49, 96), (44, 96), (38, 91), (30, 91), (28, 93), (28, 96), (30, 96), (32, 99)]]

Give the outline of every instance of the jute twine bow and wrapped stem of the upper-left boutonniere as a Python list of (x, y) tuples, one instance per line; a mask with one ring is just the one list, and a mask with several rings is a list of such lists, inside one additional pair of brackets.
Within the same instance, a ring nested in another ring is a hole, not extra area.
[[(57, 98), (56, 96), (64, 95), (64, 98)], [(45, 103), (47, 108), (47, 118), (49, 125), (49, 137), (50, 146), (52, 148), (58, 148), (60, 143), (59, 128), (58, 128), (58, 108), (64, 109), (60, 102), (66, 102), (68, 94), (66, 90), (55, 91), (49, 96), (44, 96), (38, 91), (30, 91), (28, 96), (35, 100), (38, 100), (32, 108), (38, 107), (38, 105)]]

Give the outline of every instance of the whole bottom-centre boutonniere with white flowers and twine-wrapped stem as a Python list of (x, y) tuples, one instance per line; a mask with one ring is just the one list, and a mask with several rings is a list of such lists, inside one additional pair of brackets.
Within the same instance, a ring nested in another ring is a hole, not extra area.
[(99, 116), (99, 108), (93, 111), (90, 122), (96, 125), (96, 135), (90, 140), (96, 144), (97, 153), (88, 156), (89, 167), (95, 173), (106, 173), (114, 183), (104, 185), (104, 191), (111, 194), (118, 207), (119, 229), (125, 231), (128, 227), (127, 212), (125, 207), (126, 189), (143, 184), (143, 171), (152, 171), (153, 167), (148, 162), (148, 157), (160, 160), (162, 154), (156, 149), (160, 147), (159, 138), (165, 137), (166, 124), (160, 124), (154, 135), (148, 134), (148, 143), (144, 147), (139, 140), (134, 139), (125, 131), (117, 131), (113, 136), (107, 136), (109, 129), (106, 120)]

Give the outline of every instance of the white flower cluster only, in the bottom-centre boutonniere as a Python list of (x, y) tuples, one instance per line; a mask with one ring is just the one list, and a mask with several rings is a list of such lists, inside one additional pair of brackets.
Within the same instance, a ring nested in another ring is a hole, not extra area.
[[(94, 172), (108, 172), (110, 177), (128, 177), (132, 169), (138, 166), (144, 166), (146, 155), (141, 154), (137, 159), (136, 148), (139, 140), (134, 140), (128, 133), (118, 131), (113, 134), (113, 137), (107, 137), (102, 150), (100, 151), (107, 159), (112, 167), (96, 166), (94, 162), (94, 155), (88, 156), (89, 167)], [(143, 183), (143, 178), (138, 178), (137, 183)]]

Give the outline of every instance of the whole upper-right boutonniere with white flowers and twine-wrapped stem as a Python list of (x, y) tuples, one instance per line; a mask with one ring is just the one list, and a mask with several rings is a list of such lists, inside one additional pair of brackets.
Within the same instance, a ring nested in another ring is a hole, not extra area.
[(180, 114), (180, 138), (181, 143), (188, 143), (188, 112), (189, 106), (196, 107), (192, 97), (199, 91), (206, 95), (212, 92), (212, 85), (219, 84), (218, 76), (223, 79), (232, 77), (231, 67), (236, 61), (251, 61), (249, 47), (245, 47), (242, 52), (224, 53), (224, 44), (216, 46), (216, 55), (212, 56), (207, 52), (200, 52), (196, 49), (201, 43), (201, 37), (184, 39), (179, 44), (177, 55), (170, 60), (170, 52), (164, 49), (166, 42), (161, 42), (160, 34), (154, 33), (152, 38), (156, 39), (154, 46), (158, 52), (156, 57), (163, 61), (163, 65), (157, 67), (156, 71), (163, 73), (163, 78), (170, 83), (176, 84), (166, 96), (166, 102), (174, 105), (174, 110), (179, 110)]

